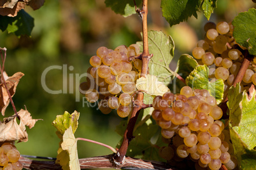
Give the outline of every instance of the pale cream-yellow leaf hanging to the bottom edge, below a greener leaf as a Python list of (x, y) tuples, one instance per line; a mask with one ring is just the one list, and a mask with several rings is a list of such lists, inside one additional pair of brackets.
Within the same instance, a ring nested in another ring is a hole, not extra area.
[[(64, 170), (80, 169), (77, 146), (76, 146), (76, 138), (73, 134), (73, 130), (71, 126), (69, 126), (69, 128), (64, 132), (63, 142), (61, 143), (60, 146), (62, 150), (66, 151), (66, 152), (62, 152), (61, 157), (60, 156), (57, 157), (58, 159), (60, 159), (60, 166), (62, 166), (62, 169)], [(67, 157), (69, 157), (68, 161), (66, 161)], [(65, 161), (63, 161), (61, 158)]]

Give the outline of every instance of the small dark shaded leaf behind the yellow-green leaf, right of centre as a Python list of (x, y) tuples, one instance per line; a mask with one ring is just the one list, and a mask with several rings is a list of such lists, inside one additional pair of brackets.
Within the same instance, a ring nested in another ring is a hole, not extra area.
[(197, 65), (197, 61), (192, 56), (181, 55), (175, 72), (178, 73), (183, 79), (186, 79), (190, 72), (197, 67)]

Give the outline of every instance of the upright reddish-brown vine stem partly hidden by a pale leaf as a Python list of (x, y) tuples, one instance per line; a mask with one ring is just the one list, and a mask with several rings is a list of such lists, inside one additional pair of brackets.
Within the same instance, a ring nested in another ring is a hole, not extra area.
[[(148, 73), (148, 63), (152, 55), (150, 55), (148, 51), (148, 26), (147, 26), (147, 15), (148, 15), (148, 0), (143, 0), (142, 9), (137, 10), (139, 15), (142, 18), (142, 30), (143, 30), (143, 53), (141, 54), (142, 59), (142, 68), (141, 68), (141, 77), (146, 77)], [(115, 162), (118, 164), (125, 163), (125, 154), (127, 152), (127, 148), (129, 146), (130, 141), (134, 138), (132, 132), (134, 130), (134, 126), (138, 119), (139, 111), (141, 108), (145, 108), (145, 104), (143, 103), (143, 93), (139, 91), (138, 96), (136, 98), (136, 102), (134, 102), (134, 107), (131, 113), (131, 118), (127, 124), (127, 128), (124, 132), (124, 140), (122, 141), (122, 145), (118, 150), (118, 153), (114, 156)]]

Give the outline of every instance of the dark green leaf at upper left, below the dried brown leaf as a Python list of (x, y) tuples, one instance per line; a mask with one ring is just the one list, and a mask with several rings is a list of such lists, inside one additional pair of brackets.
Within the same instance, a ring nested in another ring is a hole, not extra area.
[(20, 37), (22, 35), (31, 36), (34, 27), (34, 18), (32, 18), (24, 10), (18, 11), (17, 16), (1, 16), (0, 15), (0, 29), (7, 30), (8, 33), (14, 33)]

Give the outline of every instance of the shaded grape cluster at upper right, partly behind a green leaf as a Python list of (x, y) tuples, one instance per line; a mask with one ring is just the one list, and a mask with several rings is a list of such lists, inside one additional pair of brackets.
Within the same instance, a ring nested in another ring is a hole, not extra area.
[[(232, 32), (234, 27), (232, 23), (208, 22), (204, 25), (206, 32), (205, 39), (197, 42), (197, 47), (193, 49), (192, 55), (199, 64), (205, 64), (210, 67), (209, 78), (211, 82), (216, 79), (223, 79), (225, 82), (225, 94), (232, 86), (236, 75), (243, 62), (243, 47), (238, 46), (234, 41)], [(256, 57), (246, 70), (241, 85), (243, 89), (250, 88), (253, 83), (256, 85)]]

